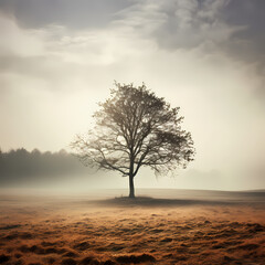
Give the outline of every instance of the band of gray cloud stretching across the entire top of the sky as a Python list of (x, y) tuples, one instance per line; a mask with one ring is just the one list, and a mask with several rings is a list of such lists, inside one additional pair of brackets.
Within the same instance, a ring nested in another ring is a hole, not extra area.
[(0, 0), (19, 25), (72, 30), (115, 23), (141, 31), (166, 50), (204, 47), (246, 62), (265, 62), (262, 0)]

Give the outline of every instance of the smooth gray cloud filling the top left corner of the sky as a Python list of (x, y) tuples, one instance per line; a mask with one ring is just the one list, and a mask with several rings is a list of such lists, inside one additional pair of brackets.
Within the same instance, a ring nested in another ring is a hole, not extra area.
[(62, 24), (70, 29), (106, 26), (113, 15), (131, 4), (124, 0), (0, 0), (0, 9), (25, 28)]

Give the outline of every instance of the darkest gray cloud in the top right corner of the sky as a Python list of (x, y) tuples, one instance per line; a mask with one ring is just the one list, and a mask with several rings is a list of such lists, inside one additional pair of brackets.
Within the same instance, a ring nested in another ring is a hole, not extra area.
[(258, 62), (265, 66), (265, 2), (258, 0), (230, 1), (222, 12), (223, 20), (232, 26), (244, 30), (234, 32), (225, 43), (229, 54), (247, 62)]

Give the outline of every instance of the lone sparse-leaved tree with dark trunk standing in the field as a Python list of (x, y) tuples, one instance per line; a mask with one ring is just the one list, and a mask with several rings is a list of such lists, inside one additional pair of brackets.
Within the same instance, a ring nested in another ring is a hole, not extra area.
[(78, 135), (72, 148), (85, 166), (128, 177), (129, 197), (135, 198), (134, 178), (141, 167), (156, 173), (186, 167), (193, 160), (193, 141), (190, 132), (181, 129), (179, 107), (171, 108), (145, 84), (115, 86), (93, 116), (94, 129)]

